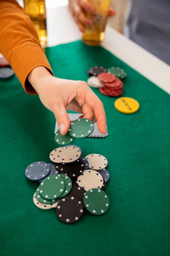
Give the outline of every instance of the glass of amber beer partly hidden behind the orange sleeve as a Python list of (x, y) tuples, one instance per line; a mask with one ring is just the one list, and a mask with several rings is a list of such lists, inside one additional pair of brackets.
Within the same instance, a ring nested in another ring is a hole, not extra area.
[(24, 9), (30, 16), (42, 46), (47, 44), (45, 0), (24, 0)]

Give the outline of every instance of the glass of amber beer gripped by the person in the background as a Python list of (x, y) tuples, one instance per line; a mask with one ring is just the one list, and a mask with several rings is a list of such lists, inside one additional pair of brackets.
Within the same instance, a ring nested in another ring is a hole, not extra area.
[(111, 0), (88, 0), (88, 2), (93, 4), (95, 12), (85, 12), (86, 17), (92, 20), (93, 25), (86, 25), (82, 34), (82, 41), (87, 45), (97, 46), (104, 40), (104, 30)]

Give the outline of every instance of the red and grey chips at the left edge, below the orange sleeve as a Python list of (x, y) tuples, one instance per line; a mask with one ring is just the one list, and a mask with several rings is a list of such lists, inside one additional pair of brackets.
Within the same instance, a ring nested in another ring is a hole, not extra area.
[(8, 79), (14, 75), (9, 62), (0, 54), (0, 79)]

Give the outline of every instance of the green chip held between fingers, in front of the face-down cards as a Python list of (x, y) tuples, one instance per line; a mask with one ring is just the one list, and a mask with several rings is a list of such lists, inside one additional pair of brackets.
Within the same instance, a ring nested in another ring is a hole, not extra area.
[(91, 135), (94, 130), (94, 124), (91, 120), (79, 118), (71, 122), (68, 133), (73, 138), (85, 138)]

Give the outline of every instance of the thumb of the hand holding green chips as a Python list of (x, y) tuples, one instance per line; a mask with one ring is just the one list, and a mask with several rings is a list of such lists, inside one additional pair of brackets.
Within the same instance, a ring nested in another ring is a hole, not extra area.
[(54, 106), (53, 113), (59, 126), (61, 135), (66, 135), (68, 129), (70, 128), (70, 119), (68, 117), (64, 103), (57, 102), (57, 105)]

